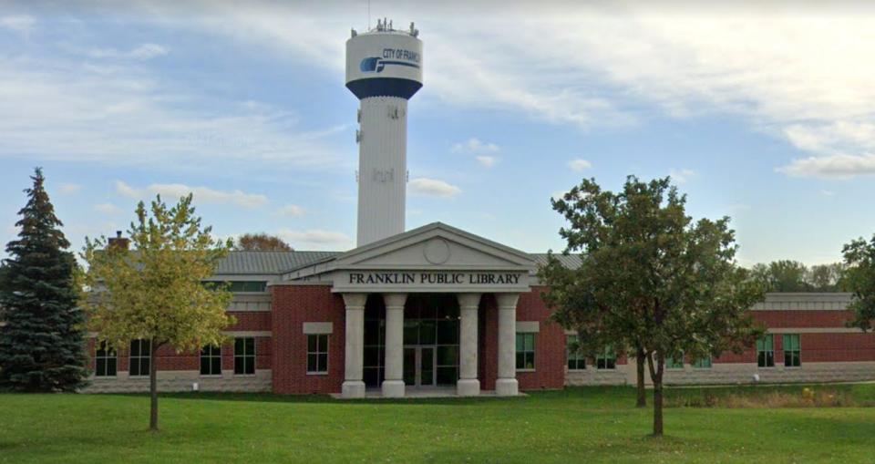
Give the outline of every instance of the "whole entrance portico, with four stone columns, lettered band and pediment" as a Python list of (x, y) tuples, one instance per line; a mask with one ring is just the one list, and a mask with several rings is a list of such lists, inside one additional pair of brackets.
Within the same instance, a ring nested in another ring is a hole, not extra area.
[[(491, 361), (497, 366), (489, 368), (498, 373), (495, 394), (514, 396), (516, 306), (520, 293), (530, 292), (534, 268), (527, 253), (436, 222), (287, 278), (330, 281), (343, 296), (342, 397), (365, 397), (368, 386), (380, 387), (383, 397), (404, 397), (407, 388), (438, 385), (478, 396), (481, 337), (497, 340), (498, 359)], [(498, 311), (497, 336), (482, 336), (487, 295)]]

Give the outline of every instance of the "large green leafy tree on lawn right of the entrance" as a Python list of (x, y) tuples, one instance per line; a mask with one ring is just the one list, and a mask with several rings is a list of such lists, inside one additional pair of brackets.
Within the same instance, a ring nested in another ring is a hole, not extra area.
[(762, 287), (736, 266), (729, 219), (693, 222), (685, 202), (669, 178), (630, 176), (619, 193), (583, 180), (552, 201), (568, 222), (564, 253), (583, 253), (582, 265), (566, 269), (551, 256), (540, 271), (554, 318), (576, 329), (582, 346), (643, 355), (656, 436), (664, 431), (666, 357), (740, 352), (762, 335), (747, 312)]

